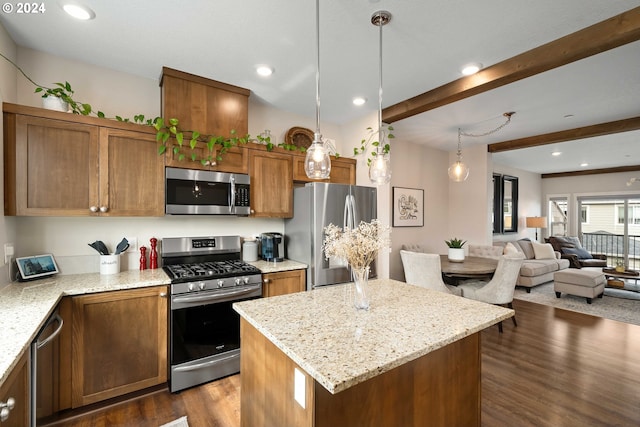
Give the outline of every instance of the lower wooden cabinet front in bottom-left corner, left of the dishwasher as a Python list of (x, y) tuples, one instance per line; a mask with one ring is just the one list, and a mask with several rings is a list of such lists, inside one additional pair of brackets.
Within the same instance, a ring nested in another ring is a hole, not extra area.
[(13, 398), (15, 406), (9, 411), (9, 417), (0, 421), (2, 427), (24, 427), (29, 425), (29, 363), (28, 352), (18, 359), (18, 363), (9, 373), (0, 387), (0, 403)]

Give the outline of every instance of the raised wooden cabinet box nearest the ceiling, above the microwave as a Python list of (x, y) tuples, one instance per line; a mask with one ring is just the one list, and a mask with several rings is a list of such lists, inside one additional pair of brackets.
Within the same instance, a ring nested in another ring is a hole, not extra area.
[(249, 129), (248, 89), (162, 67), (162, 117), (201, 134), (239, 136)]

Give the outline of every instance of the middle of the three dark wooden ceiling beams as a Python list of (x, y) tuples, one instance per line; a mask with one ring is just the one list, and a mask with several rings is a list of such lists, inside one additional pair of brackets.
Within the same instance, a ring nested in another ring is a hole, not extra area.
[(574, 141), (576, 139), (592, 138), (595, 136), (610, 135), (618, 132), (628, 132), (640, 129), (640, 117), (617, 120), (615, 122), (600, 123), (575, 129), (567, 129), (559, 132), (545, 133), (542, 135), (528, 136), (510, 141), (496, 142), (487, 146), (490, 153), (501, 151), (519, 150), (521, 148), (538, 147), (540, 145), (555, 144), (558, 142)]

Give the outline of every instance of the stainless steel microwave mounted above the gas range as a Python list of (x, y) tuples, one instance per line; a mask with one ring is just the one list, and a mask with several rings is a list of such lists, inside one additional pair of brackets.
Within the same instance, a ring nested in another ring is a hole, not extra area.
[(249, 175), (166, 168), (165, 213), (247, 216)]

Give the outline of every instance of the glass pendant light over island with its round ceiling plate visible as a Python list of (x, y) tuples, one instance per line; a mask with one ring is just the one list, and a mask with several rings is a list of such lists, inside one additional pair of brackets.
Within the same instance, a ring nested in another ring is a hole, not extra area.
[(379, 10), (371, 15), (371, 23), (380, 28), (380, 61), (379, 61), (379, 86), (378, 86), (378, 146), (375, 156), (369, 164), (369, 179), (376, 185), (388, 184), (391, 181), (391, 160), (389, 151), (385, 149), (388, 144), (384, 129), (382, 128), (382, 27), (391, 20), (391, 13)]

